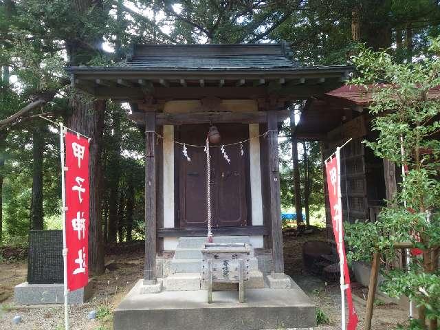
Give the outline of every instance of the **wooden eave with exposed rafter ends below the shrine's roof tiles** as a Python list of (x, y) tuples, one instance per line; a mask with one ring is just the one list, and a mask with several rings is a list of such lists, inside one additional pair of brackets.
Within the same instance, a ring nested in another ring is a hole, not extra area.
[(298, 67), (296, 69), (142, 70), (115, 67), (69, 67), (73, 87), (97, 98), (140, 100), (146, 97), (193, 100), (292, 99), (322, 96), (340, 87), (352, 67)]

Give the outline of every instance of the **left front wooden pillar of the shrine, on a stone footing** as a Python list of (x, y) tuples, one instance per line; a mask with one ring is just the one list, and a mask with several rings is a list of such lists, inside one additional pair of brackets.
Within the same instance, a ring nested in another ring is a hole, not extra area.
[(156, 283), (156, 115), (145, 113), (145, 262), (144, 285)]

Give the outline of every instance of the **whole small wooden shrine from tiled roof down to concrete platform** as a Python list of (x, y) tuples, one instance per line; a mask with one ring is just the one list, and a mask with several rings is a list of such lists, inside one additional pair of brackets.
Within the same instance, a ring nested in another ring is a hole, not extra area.
[[(114, 329), (316, 325), (313, 303), (284, 272), (278, 129), (298, 101), (306, 104), (300, 140), (338, 129), (326, 102), (351, 70), (301, 66), (285, 43), (134, 45), (119, 65), (67, 68), (72, 86), (129, 102), (145, 131), (144, 274), (115, 310)], [(206, 263), (208, 203), (214, 259), (232, 265), (222, 268), (235, 274), (230, 281), (220, 281), (215, 260)], [(231, 246), (244, 249), (244, 273), (234, 263), (241, 252), (227, 258)], [(243, 281), (241, 304), (233, 289)]]

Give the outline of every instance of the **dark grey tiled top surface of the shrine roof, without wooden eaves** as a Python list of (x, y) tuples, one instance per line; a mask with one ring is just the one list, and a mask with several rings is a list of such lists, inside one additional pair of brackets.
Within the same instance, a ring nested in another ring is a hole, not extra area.
[(292, 61), (292, 52), (287, 43), (281, 44), (237, 44), (237, 45), (133, 45), (131, 54), (116, 65), (109, 67), (68, 67), (67, 72), (123, 72), (124, 74), (145, 74), (204, 72), (225, 74), (296, 74), (309, 70), (342, 71), (342, 66), (303, 67)]

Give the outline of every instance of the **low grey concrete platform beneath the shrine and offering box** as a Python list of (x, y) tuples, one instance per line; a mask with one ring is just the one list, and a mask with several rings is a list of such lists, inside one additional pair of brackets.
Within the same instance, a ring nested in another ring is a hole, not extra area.
[(290, 289), (246, 289), (239, 292), (205, 290), (140, 294), (142, 280), (131, 289), (113, 314), (114, 330), (254, 330), (316, 327), (316, 307), (292, 283)]

